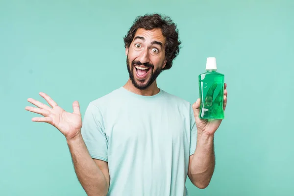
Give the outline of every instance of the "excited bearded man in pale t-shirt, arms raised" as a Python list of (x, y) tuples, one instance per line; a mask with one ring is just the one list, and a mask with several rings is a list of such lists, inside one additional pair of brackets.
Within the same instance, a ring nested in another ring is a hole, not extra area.
[[(90, 102), (83, 123), (77, 101), (69, 113), (45, 93), (40, 95), (51, 107), (28, 99), (38, 108), (26, 110), (44, 116), (32, 121), (50, 123), (65, 135), (89, 196), (186, 196), (187, 175), (206, 188), (221, 120), (200, 120), (200, 99), (191, 106), (156, 83), (179, 52), (176, 26), (159, 14), (138, 17), (124, 43), (128, 81)], [(226, 95), (224, 90), (224, 107)]]

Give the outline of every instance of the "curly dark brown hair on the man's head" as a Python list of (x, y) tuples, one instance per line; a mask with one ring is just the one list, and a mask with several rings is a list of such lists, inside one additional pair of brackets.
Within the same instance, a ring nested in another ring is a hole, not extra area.
[(138, 28), (145, 28), (146, 30), (161, 28), (162, 34), (166, 38), (165, 53), (167, 60), (166, 66), (162, 70), (171, 69), (172, 60), (178, 55), (179, 45), (181, 44), (178, 39), (178, 29), (171, 18), (157, 13), (138, 16), (123, 38), (125, 48), (130, 47)]

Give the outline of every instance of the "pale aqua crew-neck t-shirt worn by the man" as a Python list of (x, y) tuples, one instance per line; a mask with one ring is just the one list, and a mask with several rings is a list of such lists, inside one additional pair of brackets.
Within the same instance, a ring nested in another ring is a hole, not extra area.
[(121, 87), (90, 102), (81, 132), (92, 158), (108, 162), (108, 196), (188, 196), (189, 156), (196, 149), (188, 101)]

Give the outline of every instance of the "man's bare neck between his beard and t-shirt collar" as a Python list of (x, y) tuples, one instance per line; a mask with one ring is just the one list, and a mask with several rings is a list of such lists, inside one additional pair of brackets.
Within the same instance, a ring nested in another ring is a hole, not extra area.
[(128, 81), (123, 86), (123, 88), (125, 88), (126, 90), (132, 93), (143, 95), (143, 96), (153, 96), (159, 93), (159, 88), (157, 87), (156, 80), (147, 89), (141, 90), (141, 89), (137, 89), (133, 85), (131, 79), (129, 78)]

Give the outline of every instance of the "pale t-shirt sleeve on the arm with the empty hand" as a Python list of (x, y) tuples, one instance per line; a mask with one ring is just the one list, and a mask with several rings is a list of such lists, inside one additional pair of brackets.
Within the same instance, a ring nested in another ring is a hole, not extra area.
[(91, 157), (107, 162), (108, 141), (103, 128), (103, 116), (93, 103), (86, 109), (81, 134)]

